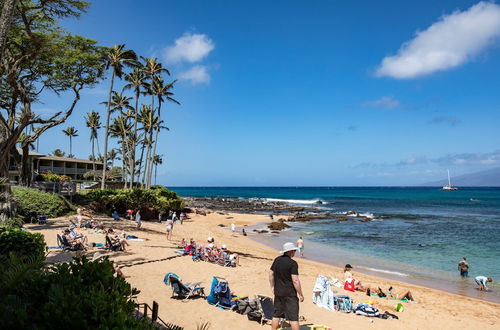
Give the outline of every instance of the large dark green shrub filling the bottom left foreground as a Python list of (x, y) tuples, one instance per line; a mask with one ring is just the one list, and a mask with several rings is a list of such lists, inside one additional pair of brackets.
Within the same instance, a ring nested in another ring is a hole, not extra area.
[(3, 328), (158, 328), (134, 316), (136, 304), (131, 296), (139, 291), (113, 276), (111, 261), (90, 262), (79, 257), (48, 269), (37, 267), (10, 260), (0, 269)]

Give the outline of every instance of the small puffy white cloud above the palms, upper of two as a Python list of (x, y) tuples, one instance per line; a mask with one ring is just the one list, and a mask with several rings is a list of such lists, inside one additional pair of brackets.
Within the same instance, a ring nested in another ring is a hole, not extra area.
[(206, 34), (185, 33), (175, 40), (175, 45), (165, 48), (163, 55), (169, 63), (194, 63), (205, 58), (214, 48), (214, 42)]

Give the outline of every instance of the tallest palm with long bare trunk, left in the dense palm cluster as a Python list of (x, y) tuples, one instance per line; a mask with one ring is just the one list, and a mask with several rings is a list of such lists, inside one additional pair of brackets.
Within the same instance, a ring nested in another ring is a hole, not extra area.
[(109, 134), (109, 119), (111, 116), (111, 96), (115, 76), (121, 78), (123, 75), (124, 66), (133, 66), (137, 64), (137, 55), (133, 50), (125, 49), (125, 45), (115, 45), (107, 50), (104, 58), (106, 70), (110, 67), (111, 82), (109, 84), (108, 103), (106, 106), (106, 131), (104, 133), (104, 166), (102, 169), (101, 189), (104, 189), (106, 182), (106, 164), (108, 156), (108, 134)]

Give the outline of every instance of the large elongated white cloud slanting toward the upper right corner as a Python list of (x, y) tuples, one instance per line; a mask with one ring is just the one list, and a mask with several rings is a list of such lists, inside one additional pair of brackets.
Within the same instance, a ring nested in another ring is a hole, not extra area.
[(479, 2), (445, 15), (387, 56), (377, 76), (409, 79), (457, 67), (500, 36), (500, 5)]

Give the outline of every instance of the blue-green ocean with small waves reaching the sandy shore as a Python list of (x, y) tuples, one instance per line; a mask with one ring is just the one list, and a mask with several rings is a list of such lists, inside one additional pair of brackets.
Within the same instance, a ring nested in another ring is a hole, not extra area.
[[(331, 219), (293, 223), (280, 235), (252, 235), (279, 248), (302, 236), (307, 258), (500, 303), (500, 188), (172, 187), (186, 197), (261, 198), (319, 207)], [(339, 221), (349, 211), (371, 217)], [(462, 279), (457, 264), (470, 264)], [(492, 292), (473, 278), (493, 278)]]

